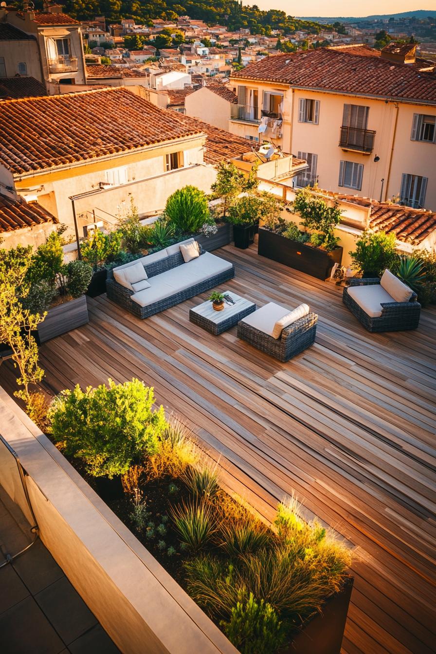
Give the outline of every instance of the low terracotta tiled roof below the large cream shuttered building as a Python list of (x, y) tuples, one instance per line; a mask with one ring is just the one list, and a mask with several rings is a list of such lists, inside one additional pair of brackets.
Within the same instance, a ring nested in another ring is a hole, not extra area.
[(321, 191), (339, 200), (352, 202), (370, 209), (369, 228), (377, 232), (394, 233), (398, 241), (419, 245), (436, 231), (436, 213), (427, 209), (414, 209), (371, 198)]

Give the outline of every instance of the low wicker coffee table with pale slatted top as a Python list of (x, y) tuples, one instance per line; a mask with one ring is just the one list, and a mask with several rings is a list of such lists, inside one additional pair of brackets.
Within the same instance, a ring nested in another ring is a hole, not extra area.
[(212, 307), (212, 302), (207, 300), (198, 305), (198, 307), (190, 309), (190, 321), (199, 325), (199, 327), (203, 327), (203, 329), (215, 336), (222, 334), (222, 332), (238, 324), (239, 320), (248, 316), (249, 313), (256, 311), (256, 304), (254, 302), (245, 300), (245, 298), (241, 298), (229, 290), (223, 293), (224, 295), (229, 295), (235, 304), (225, 302), (222, 311), (215, 311)]

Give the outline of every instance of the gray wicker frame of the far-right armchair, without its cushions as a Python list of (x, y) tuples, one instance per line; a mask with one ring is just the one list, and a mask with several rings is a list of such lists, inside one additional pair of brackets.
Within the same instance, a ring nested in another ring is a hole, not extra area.
[[(350, 286), (369, 286), (380, 284), (380, 279), (351, 279)], [(420, 321), (421, 305), (416, 301), (416, 293), (412, 293), (411, 299), (407, 302), (382, 302), (382, 315), (380, 317), (371, 317), (348, 293), (348, 288), (344, 288), (343, 303), (351, 313), (360, 320), (361, 324), (369, 332), (400, 332), (403, 330), (416, 329)]]

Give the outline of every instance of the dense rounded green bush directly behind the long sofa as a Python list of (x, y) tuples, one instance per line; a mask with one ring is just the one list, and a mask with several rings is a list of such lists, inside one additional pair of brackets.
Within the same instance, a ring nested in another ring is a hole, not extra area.
[(165, 216), (177, 230), (195, 234), (209, 219), (207, 197), (196, 186), (184, 186), (167, 199)]

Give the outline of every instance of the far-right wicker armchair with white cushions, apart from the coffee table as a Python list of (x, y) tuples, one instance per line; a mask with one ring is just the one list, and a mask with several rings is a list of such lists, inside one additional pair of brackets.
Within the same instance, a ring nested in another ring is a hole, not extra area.
[(409, 286), (386, 270), (381, 279), (352, 279), (343, 302), (369, 332), (416, 329), (421, 305)]

